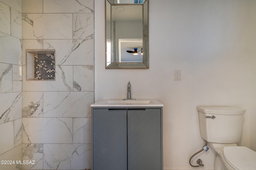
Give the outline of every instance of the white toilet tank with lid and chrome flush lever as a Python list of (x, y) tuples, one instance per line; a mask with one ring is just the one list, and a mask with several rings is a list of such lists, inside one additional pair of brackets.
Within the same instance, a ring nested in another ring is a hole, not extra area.
[(238, 143), (241, 140), (244, 109), (198, 106), (197, 110), (200, 134), (204, 140), (212, 143)]

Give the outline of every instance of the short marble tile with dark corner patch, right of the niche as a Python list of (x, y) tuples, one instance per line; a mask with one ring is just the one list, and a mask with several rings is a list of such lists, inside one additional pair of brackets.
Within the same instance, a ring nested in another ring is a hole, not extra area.
[(74, 66), (74, 91), (93, 91), (94, 90), (94, 67), (93, 66)]

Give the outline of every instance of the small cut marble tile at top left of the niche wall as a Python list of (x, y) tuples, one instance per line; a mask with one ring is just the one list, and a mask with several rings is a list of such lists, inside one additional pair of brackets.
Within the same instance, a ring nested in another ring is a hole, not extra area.
[(22, 0), (22, 13), (43, 13), (43, 0)]

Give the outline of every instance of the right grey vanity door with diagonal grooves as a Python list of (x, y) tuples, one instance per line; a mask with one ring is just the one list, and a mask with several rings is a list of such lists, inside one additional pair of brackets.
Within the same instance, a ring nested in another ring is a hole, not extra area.
[(128, 109), (128, 170), (161, 170), (161, 110)]

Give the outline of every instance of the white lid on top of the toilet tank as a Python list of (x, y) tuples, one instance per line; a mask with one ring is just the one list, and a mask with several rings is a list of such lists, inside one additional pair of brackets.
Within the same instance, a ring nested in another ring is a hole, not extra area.
[(217, 115), (242, 115), (245, 109), (229, 106), (197, 106), (198, 111)]

